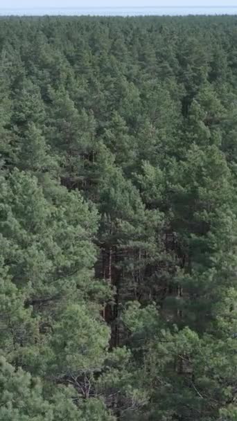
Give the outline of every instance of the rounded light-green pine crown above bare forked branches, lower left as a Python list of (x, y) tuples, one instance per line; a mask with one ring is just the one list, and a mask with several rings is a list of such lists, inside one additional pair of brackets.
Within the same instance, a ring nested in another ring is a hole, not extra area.
[(100, 370), (109, 341), (109, 329), (96, 321), (85, 305), (71, 305), (53, 326), (53, 361), (49, 370), (58, 373)]

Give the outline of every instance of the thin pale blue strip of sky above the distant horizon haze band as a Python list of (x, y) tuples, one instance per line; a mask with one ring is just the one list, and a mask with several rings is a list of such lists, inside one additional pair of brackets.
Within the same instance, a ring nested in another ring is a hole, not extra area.
[(237, 0), (0, 0), (0, 8), (87, 8), (107, 6), (237, 6)]

